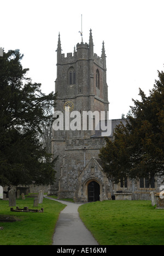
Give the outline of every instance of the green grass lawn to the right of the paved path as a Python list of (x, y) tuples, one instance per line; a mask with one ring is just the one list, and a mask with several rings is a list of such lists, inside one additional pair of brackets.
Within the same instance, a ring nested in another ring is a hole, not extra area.
[(151, 201), (103, 201), (79, 207), (99, 245), (164, 245), (164, 210)]

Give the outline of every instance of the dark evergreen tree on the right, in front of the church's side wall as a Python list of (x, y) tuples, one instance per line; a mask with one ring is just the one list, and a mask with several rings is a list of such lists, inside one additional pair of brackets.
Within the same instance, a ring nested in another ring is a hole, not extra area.
[(164, 73), (159, 72), (147, 97), (139, 89), (141, 101), (133, 100), (126, 125), (118, 125), (111, 141), (101, 149), (104, 172), (118, 183), (125, 177), (140, 178), (164, 174)]

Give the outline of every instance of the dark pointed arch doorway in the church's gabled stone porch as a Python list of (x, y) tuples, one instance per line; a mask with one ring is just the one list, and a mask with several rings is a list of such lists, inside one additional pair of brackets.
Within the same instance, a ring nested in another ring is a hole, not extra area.
[(92, 181), (87, 186), (88, 202), (99, 201), (100, 187), (95, 181)]

